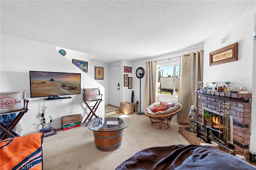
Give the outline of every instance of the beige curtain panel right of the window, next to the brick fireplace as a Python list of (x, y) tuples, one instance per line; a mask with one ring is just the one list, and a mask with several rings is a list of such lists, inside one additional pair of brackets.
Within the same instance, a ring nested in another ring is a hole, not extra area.
[(182, 110), (177, 114), (178, 124), (188, 124), (190, 106), (198, 107), (198, 95), (195, 93), (198, 81), (203, 82), (204, 51), (183, 54), (180, 57), (180, 79), (178, 102)]

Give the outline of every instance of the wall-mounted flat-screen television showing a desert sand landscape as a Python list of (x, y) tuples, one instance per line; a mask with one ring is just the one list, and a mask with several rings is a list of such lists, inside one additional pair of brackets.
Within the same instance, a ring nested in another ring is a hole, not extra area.
[(81, 93), (81, 73), (29, 71), (30, 97), (58, 97)]

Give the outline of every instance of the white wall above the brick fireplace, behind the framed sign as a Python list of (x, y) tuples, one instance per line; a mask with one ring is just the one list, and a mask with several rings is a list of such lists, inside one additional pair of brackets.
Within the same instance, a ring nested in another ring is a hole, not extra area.
[[(245, 86), (248, 92), (252, 93), (252, 98), (254, 99), (256, 95), (256, 43), (253, 38), (253, 32), (256, 30), (255, 15), (254, 13), (204, 42), (204, 82), (230, 81), (229, 86), (234, 87), (236, 90), (239, 90), (241, 86)], [(220, 44), (220, 39), (224, 39), (224, 43)], [(236, 42), (238, 42), (238, 61), (209, 65), (210, 52)], [(211, 84), (209, 83), (209, 85)], [(250, 150), (256, 151), (256, 133), (254, 131), (256, 129), (256, 103), (255, 100), (253, 101)]]

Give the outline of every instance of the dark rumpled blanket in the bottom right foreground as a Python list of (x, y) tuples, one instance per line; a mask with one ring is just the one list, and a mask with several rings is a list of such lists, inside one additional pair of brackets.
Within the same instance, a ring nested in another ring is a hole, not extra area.
[(116, 170), (256, 170), (236, 156), (209, 145), (171, 145), (141, 150)]

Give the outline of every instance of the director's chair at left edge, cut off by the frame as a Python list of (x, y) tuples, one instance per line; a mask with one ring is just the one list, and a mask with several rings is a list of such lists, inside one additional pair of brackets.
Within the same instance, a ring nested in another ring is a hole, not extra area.
[(4, 140), (7, 137), (14, 138), (19, 136), (16, 132), (13, 131), (13, 128), (27, 112), (28, 100), (26, 100), (26, 91), (0, 93), (0, 115), (2, 116), (18, 113), (18, 115), (10, 122), (9, 125), (6, 125), (7, 122), (0, 122), (0, 130), (2, 131), (0, 140)]

